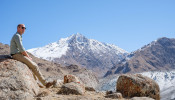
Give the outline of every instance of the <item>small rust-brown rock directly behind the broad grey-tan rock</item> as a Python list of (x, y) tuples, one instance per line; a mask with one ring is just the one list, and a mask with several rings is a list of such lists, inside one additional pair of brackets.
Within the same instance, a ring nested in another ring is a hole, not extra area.
[(65, 83), (70, 83), (70, 82), (80, 83), (80, 80), (74, 75), (65, 75), (64, 76), (64, 84)]

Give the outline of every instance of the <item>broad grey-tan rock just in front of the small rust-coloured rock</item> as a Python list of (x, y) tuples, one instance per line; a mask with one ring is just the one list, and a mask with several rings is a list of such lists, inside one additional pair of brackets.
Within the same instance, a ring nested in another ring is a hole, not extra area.
[(71, 82), (64, 84), (58, 94), (75, 94), (75, 95), (83, 95), (85, 93), (85, 87), (83, 84), (77, 82)]

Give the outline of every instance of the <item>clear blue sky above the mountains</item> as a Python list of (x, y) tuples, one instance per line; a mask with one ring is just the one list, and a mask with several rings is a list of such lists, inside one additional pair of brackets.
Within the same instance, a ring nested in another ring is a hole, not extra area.
[(175, 36), (175, 0), (0, 0), (0, 42), (24, 23), (26, 49), (81, 33), (132, 52)]

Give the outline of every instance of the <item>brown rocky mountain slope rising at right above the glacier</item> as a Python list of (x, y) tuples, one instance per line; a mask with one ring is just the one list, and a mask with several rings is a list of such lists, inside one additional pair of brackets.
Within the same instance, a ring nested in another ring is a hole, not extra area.
[(111, 68), (105, 77), (112, 74), (170, 71), (173, 69), (175, 69), (175, 39), (164, 37), (128, 55)]

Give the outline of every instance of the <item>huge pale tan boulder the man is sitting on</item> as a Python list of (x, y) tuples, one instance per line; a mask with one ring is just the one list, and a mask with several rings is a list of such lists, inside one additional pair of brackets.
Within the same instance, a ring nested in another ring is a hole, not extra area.
[(39, 87), (30, 69), (23, 63), (0, 60), (0, 100), (32, 100)]

